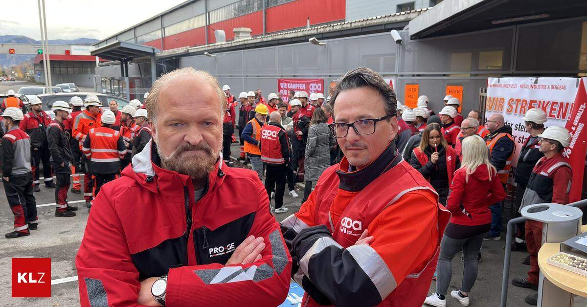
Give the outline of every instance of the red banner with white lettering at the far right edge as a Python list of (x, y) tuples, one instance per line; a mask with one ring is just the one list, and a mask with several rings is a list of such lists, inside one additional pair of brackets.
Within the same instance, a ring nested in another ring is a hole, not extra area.
[(569, 193), (569, 202), (581, 200), (583, 188), (583, 170), (585, 169), (585, 153), (587, 147), (587, 133), (582, 133), (587, 123), (587, 90), (585, 89), (586, 78), (581, 78), (571, 119), (566, 122), (566, 130), (571, 132), (571, 144), (565, 148), (564, 156), (569, 158), (569, 163), (573, 169), (573, 180), (571, 184), (571, 193)]

